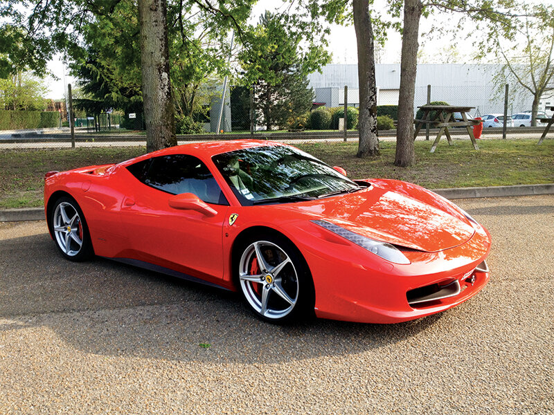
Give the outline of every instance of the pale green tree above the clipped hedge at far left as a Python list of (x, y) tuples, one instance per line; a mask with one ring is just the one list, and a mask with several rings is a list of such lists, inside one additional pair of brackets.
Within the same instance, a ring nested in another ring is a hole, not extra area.
[(43, 111), (48, 88), (29, 72), (14, 73), (0, 79), (0, 107), (12, 111)]

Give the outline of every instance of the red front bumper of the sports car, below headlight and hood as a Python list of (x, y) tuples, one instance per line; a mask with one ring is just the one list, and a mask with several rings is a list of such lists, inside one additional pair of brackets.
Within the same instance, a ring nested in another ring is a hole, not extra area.
[[(404, 252), (411, 261), (406, 265), (392, 264), (356, 246), (328, 243), (328, 249), (321, 250), (320, 245), (319, 252), (310, 248), (305, 252), (316, 290), (315, 312), (322, 318), (366, 323), (414, 320), (461, 304), (489, 279), (483, 263), (490, 251), (490, 234), (482, 227), (461, 246)], [(452, 295), (413, 301), (435, 291), (422, 287), (434, 285), (436, 291), (459, 285), (459, 292), (451, 289)]]

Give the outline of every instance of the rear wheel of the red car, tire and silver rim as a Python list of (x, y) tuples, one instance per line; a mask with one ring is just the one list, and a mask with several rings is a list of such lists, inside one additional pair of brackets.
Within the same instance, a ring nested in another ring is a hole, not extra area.
[(75, 199), (69, 196), (56, 199), (48, 212), (48, 227), (65, 259), (81, 262), (94, 255), (87, 221)]

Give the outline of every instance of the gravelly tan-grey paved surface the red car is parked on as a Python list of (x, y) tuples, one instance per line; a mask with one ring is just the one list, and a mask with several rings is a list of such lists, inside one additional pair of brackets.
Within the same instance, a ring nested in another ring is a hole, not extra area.
[(1, 414), (554, 413), (554, 196), (457, 201), (491, 279), (395, 325), (260, 322), (238, 296), (0, 223)]

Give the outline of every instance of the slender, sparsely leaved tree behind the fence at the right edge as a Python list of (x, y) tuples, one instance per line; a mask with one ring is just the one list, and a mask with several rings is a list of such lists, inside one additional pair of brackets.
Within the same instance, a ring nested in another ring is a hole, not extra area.
[(506, 38), (501, 26), (492, 27), (488, 39), (494, 48), (489, 52), (503, 62), (495, 76), (502, 89), (509, 82), (516, 90), (533, 95), (531, 125), (535, 127), (542, 95), (554, 91), (554, 6), (522, 7), (524, 16), (515, 20), (515, 36)]

